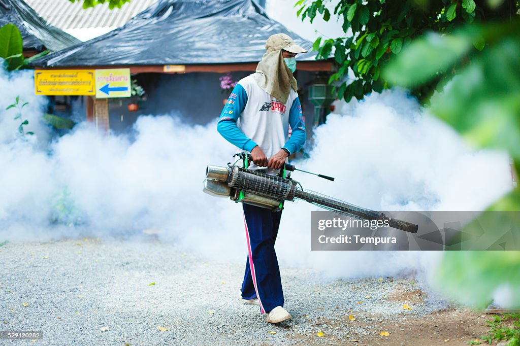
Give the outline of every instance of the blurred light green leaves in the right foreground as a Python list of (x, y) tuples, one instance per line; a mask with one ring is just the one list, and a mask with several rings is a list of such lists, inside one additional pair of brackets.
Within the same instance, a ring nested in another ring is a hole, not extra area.
[[(431, 97), (430, 111), (475, 147), (508, 151), (518, 172), (519, 29), (520, 18), (515, 15), (506, 23), (471, 24), (452, 34), (427, 34), (404, 48), (387, 65), (383, 76), (404, 87), (438, 81), (436, 88), (440, 91)], [(485, 43), (482, 51), (474, 48), (479, 41)], [(465, 63), (461, 64), (463, 60)], [(520, 210), (520, 188), (515, 187), (488, 209)], [(513, 225), (520, 223), (518, 214), (490, 215), (494, 219), (488, 224), (497, 229), (508, 224), (514, 230)], [(481, 229), (477, 222), (470, 222), (462, 232), (479, 234)], [(520, 307), (520, 253), (447, 251), (437, 282), (447, 295), (480, 308), (492, 301), (497, 289), (507, 286), (511, 290), (511, 305)]]

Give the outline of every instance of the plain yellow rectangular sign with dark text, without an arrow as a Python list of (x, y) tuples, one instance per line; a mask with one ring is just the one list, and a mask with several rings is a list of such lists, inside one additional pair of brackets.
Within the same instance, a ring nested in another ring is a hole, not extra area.
[(36, 95), (96, 95), (93, 70), (35, 70)]

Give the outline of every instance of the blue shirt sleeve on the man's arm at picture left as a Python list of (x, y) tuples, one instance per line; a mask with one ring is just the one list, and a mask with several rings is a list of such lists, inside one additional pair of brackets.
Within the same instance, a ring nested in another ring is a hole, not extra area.
[(243, 112), (246, 102), (248, 102), (248, 94), (240, 84), (237, 84), (220, 114), (217, 131), (231, 144), (250, 152), (257, 144), (245, 136), (237, 126), (238, 117)]

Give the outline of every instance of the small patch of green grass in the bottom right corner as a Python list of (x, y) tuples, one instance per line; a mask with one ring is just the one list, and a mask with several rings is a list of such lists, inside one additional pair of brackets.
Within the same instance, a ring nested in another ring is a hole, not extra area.
[(509, 341), (510, 346), (520, 346), (520, 313), (497, 315), (486, 324), (490, 330), (488, 335), (483, 335), (481, 338), (488, 344), (491, 344), (493, 340), (505, 340)]

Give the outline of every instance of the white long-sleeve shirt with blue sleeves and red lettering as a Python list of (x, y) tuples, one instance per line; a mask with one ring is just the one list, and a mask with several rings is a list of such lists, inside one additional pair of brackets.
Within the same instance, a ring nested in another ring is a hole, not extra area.
[(281, 103), (261, 89), (252, 75), (242, 78), (233, 88), (217, 130), (241, 150), (251, 152), (258, 145), (268, 158), (282, 148), (297, 152), (306, 137), (297, 92), (291, 89), (287, 102)]

